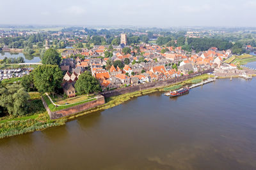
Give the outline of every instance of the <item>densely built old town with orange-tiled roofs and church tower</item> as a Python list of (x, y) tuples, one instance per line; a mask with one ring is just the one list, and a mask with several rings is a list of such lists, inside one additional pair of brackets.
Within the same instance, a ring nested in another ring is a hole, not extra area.
[[(205, 52), (188, 53), (181, 46), (161, 47), (143, 43), (127, 46), (127, 35), (121, 34), (120, 45), (95, 45), (92, 49), (67, 49), (61, 53), (61, 71), (65, 71), (63, 87), (69, 97), (76, 96), (74, 84), (79, 75), (90, 71), (99, 80), (102, 90), (163, 81), (208, 69), (237, 69), (223, 61), (232, 56), (231, 50), (212, 47)], [(142, 55), (133, 55), (140, 52)], [(106, 56), (111, 53), (110, 57)], [(82, 55), (82, 57), (73, 57)], [(73, 57), (73, 58), (71, 58)], [(67, 89), (68, 87), (68, 89)], [(71, 90), (73, 89), (73, 90)]]

